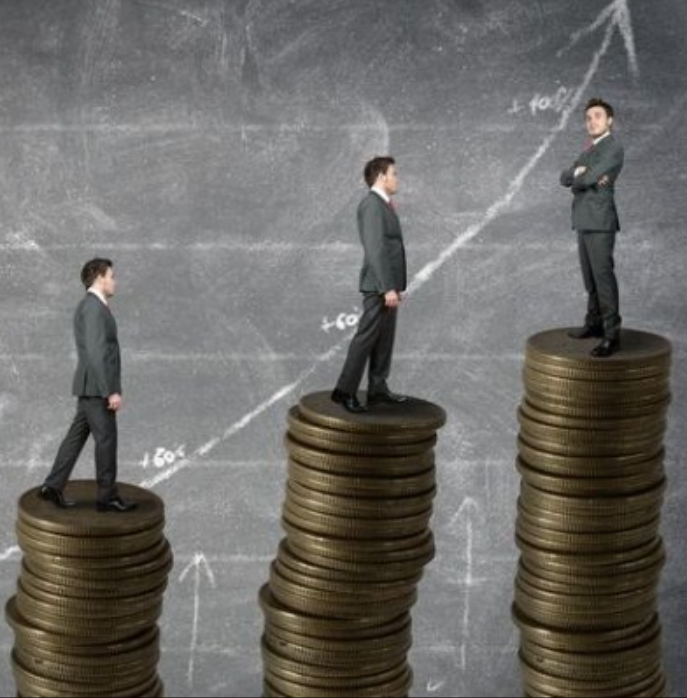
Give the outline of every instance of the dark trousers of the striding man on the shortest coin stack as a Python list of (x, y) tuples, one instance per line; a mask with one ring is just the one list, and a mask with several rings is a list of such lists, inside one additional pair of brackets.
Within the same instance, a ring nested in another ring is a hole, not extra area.
[(117, 416), (100, 397), (80, 397), (76, 416), (60, 446), (45, 484), (64, 490), (76, 461), (93, 434), (98, 501), (106, 502), (117, 494)]

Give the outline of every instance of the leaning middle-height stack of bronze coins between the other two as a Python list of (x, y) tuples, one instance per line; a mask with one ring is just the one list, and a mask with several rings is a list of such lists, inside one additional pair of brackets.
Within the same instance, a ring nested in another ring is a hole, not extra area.
[(436, 405), (288, 416), (286, 538), (260, 590), (265, 696), (406, 696), (410, 610), (434, 556)]

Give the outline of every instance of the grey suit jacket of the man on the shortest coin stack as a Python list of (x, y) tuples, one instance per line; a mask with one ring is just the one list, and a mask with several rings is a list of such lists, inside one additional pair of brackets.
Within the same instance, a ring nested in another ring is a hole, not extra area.
[(121, 394), (121, 357), (117, 323), (110, 309), (87, 293), (74, 313), (74, 340), (79, 363), (72, 391), (77, 397)]

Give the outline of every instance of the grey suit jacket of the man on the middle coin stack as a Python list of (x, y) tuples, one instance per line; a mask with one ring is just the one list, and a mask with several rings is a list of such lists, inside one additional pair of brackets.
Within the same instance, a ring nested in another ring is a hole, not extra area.
[(406, 253), (401, 222), (381, 196), (370, 191), (358, 207), (358, 232), (365, 250), (361, 293), (405, 291)]

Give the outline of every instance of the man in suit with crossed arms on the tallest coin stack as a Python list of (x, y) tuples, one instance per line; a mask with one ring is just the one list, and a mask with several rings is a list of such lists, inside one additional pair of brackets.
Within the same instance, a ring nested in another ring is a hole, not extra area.
[(602, 99), (587, 104), (585, 120), (590, 147), (561, 175), (572, 189), (573, 229), (577, 230), (580, 266), (588, 294), (584, 326), (570, 332), (575, 339), (603, 341), (592, 356), (606, 358), (620, 348), (620, 301), (615, 276), (616, 233), (620, 230), (615, 206), (615, 183), (623, 168), (624, 150), (613, 135), (613, 107)]

